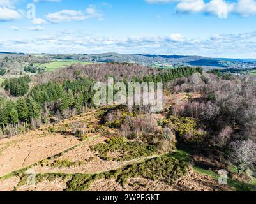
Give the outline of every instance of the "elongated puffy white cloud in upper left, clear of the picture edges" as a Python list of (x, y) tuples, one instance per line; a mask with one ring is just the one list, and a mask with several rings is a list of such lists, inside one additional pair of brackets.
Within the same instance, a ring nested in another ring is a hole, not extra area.
[(75, 11), (75, 10), (62, 10), (57, 11), (55, 13), (47, 14), (47, 20), (52, 23), (59, 22), (70, 22), (72, 20), (86, 20), (89, 18), (98, 18), (98, 20), (103, 20), (102, 13), (96, 9), (96, 7), (90, 5), (88, 8), (83, 11)]

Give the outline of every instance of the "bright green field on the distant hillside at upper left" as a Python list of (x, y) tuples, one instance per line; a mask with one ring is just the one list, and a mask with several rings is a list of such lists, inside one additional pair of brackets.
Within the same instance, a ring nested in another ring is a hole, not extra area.
[(54, 71), (56, 69), (63, 68), (64, 66), (70, 66), (72, 64), (92, 64), (90, 62), (80, 62), (75, 60), (63, 60), (63, 61), (54, 61), (47, 64), (40, 64), (38, 68), (45, 68), (45, 71)]

